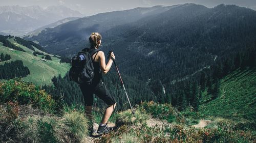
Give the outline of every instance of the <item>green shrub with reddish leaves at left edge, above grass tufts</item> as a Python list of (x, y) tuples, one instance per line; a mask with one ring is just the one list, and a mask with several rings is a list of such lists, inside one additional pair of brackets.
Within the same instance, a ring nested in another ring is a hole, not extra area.
[(22, 81), (20, 78), (0, 83), (0, 102), (18, 102), (19, 104), (32, 104), (41, 110), (53, 113), (57, 104), (44, 90), (34, 84)]

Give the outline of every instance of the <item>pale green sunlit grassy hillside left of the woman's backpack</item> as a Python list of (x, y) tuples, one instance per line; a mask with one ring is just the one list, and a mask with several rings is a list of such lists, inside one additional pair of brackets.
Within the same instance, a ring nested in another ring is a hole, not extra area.
[[(0, 43), (0, 51), (4, 54), (11, 55), (11, 60), (6, 62), (11, 62), (15, 60), (23, 61), (23, 64), (27, 66), (30, 70), (30, 75), (22, 78), (25, 81), (31, 81), (36, 85), (51, 85), (52, 84), (52, 77), (54, 75), (60, 74), (64, 76), (69, 68), (70, 64), (67, 63), (59, 63), (60, 59), (52, 57), (52, 61), (47, 60), (48, 62), (41, 61), (41, 55), (34, 56), (33, 51), (23, 45), (17, 44), (13, 39), (8, 39), (13, 44), (20, 46), (26, 52), (22, 51), (10, 51), (8, 47), (3, 46), (3, 43)], [(36, 51), (40, 51), (35, 48)], [(41, 51), (40, 51), (41, 52)], [(51, 55), (51, 54), (49, 54)], [(3, 65), (5, 62), (1, 62), (0, 65)]]

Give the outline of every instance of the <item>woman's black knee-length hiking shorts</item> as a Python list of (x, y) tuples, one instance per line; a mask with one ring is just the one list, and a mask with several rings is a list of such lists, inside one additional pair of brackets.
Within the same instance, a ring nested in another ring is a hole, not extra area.
[(84, 105), (93, 105), (93, 94), (102, 99), (107, 105), (113, 105), (116, 103), (115, 98), (110, 94), (109, 90), (106, 89), (104, 82), (100, 81), (97, 85), (84, 85), (80, 84), (82, 91)]

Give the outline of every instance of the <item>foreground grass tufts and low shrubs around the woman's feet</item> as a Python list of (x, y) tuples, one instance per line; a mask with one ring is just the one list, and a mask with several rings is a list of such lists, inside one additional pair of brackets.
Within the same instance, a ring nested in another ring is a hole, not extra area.
[[(231, 83), (231, 82), (230, 82)], [(224, 84), (222, 84), (224, 85)], [(217, 100), (217, 99), (216, 99)], [(88, 137), (89, 122), (82, 105), (63, 105), (44, 90), (30, 82), (12, 79), (0, 82), (0, 142), (84, 142)], [(24, 105), (43, 113), (28, 111)], [(22, 111), (23, 110), (23, 111)], [(94, 121), (102, 114), (95, 110)], [(195, 128), (201, 119), (209, 122)], [(95, 142), (255, 142), (255, 123), (214, 118), (196, 111), (192, 106), (178, 111), (171, 104), (153, 101), (135, 106), (135, 114), (124, 110), (110, 119), (115, 130), (94, 138)], [(162, 125), (152, 125), (159, 121)], [(166, 124), (165, 124), (166, 123)]]

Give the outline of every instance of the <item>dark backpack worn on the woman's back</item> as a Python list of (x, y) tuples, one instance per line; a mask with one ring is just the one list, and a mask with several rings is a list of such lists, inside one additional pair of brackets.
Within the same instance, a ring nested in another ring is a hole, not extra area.
[[(73, 56), (71, 68), (69, 70), (70, 80), (75, 81), (78, 84), (92, 84), (94, 77), (92, 55), (98, 51), (100, 50), (87, 48), (87, 50), (80, 51)], [(95, 58), (93, 60), (95, 60)]]

